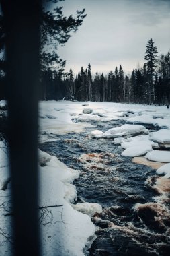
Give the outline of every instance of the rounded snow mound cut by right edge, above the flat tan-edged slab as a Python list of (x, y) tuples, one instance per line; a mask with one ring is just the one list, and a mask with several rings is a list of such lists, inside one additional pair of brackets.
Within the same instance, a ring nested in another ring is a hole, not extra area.
[(157, 143), (170, 143), (170, 130), (161, 129), (150, 134), (150, 139)]

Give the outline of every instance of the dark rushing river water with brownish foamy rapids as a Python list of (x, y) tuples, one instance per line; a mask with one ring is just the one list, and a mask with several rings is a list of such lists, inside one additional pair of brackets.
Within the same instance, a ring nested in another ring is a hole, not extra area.
[[(93, 124), (106, 131), (124, 121)], [(155, 170), (121, 156), (122, 148), (112, 139), (92, 139), (94, 129), (52, 135), (58, 140), (40, 144), (41, 150), (81, 171), (74, 182), (75, 203), (87, 201), (103, 207), (91, 218), (97, 239), (89, 255), (170, 255), (170, 189), (160, 193)]]

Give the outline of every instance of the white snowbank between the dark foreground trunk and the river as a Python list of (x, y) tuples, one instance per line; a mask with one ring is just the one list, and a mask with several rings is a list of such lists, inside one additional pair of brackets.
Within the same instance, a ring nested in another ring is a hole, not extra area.
[(79, 171), (67, 168), (55, 156), (40, 168), (40, 206), (63, 205), (52, 211), (52, 224), (41, 225), (43, 255), (54, 255), (54, 251), (58, 256), (84, 255), (89, 237), (95, 237), (90, 217), (70, 205), (77, 197), (76, 188), (70, 183), (78, 177)]

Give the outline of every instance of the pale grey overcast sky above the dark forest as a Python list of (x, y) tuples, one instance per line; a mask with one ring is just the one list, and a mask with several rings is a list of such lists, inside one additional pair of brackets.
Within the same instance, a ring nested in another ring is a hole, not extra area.
[(129, 72), (143, 65), (146, 42), (161, 53), (170, 50), (170, 0), (65, 0), (65, 15), (85, 8), (87, 17), (58, 54), (66, 71), (81, 66), (108, 73), (116, 65)]

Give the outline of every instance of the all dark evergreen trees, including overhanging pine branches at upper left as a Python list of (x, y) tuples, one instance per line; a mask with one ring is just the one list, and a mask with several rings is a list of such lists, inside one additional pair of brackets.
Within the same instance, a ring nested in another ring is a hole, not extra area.
[[(122, 65), (107, 75), (96, 72), (91, 65), (65, 72), (65, 61), (58, 54), (59, 44), (65, 44), (86, 16), (85, 9), (75, 17), (65, 17), (62, 7), (52, 2), (50, 10), (42, 7), (40, 44), (40, 100), (81, 100), (97, 102), (134, 102), (138, 104), (168, 104), (170, 102), (170, 53), (157, 56), (157, 46), (151, 38), (146, 42), (145, 63), (127, 75)], [(0, 99), (5, 99), (5, 30), (0, 14)]]

